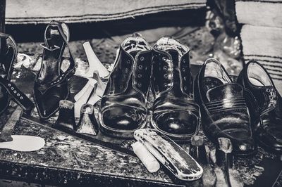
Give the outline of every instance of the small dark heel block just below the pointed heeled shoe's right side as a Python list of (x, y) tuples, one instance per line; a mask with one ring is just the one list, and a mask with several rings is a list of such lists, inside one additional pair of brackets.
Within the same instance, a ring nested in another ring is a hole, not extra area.
[(57, 127), (66, 127), (75, 130), (74, 103), (67, 100), (61, 100), (59, 103), (59, 117), (54, 124)]

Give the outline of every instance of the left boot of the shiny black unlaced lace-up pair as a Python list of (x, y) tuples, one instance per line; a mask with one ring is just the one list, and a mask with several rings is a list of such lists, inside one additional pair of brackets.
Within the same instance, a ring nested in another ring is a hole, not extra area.
[(133, 138), (147, 123), (152, 50), (139, 34), (123, 41), (99, 108), (102, 133)]

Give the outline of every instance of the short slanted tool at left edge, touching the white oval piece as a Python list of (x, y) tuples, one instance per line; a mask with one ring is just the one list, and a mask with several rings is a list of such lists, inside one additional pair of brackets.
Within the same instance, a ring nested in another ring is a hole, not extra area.
[(23, 108), (21, 108), (18, 105), (16, 110), (13, 111), (13, 114), (8, 119), (8, 121), (6, 122), (6, 124), (4, 125), (1, 131), (0, 142), (13, 141), (11, 134), (13, 133), (13, 129), (15, 128), (15, 125), (18, 123), (22, 115), (23, 115)]

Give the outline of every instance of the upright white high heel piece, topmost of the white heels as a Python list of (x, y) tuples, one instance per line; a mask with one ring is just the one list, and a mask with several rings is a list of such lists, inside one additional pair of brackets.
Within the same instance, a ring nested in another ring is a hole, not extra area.
[(106, 67), (104, 67), (104, 65), (102, 65), (100, 60), (97, 58), (94, 51), (92, 50), (92, 47), (91, 47), (89, 41), (87, 41), (83, 44), (83, 48), (85, 50), (85, 53), (86, 53), (86, 56), (87, 56), (87, 59), (88, 59), (88, 63), (89, 63), (89, 70), (86, 73), (85, 77), (91, 77), (92, 78), (93, 72), (95, 70), (99, 72), (99, 75), (101, 75), (101, 77), (108, 76), (109, 71), (106, 70)]

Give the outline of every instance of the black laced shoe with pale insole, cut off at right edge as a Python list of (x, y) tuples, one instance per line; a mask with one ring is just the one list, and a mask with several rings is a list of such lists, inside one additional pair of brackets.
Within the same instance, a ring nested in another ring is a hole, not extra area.
[(245, 91), (252, 129), (260, 146), (282, 153), (282, 98), (266, 69), (251, 60), (238, 77)]

